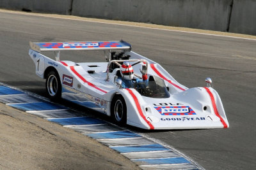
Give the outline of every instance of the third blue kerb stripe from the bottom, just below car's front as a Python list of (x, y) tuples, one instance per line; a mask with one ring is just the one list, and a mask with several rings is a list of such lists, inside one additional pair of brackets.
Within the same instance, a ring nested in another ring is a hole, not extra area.
[(119, 131), (119, 132), (102, 132), (102, 133), (93, 133), (86, 134), (94, 139), (115, 139), (115, 138), (138, 138), (141, 137), (139, 134), (134, 134), (129, 131)]

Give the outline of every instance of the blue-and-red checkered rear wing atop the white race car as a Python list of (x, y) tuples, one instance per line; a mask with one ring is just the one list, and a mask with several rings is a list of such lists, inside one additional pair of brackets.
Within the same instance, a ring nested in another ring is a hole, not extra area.
[(128, 50), (132, 46), (121, 41), (83, 41), (83, 42), (59, 42), (59, 43), (35, 43), (29, 42), (31, 50), (36, 52), (63, 51), (63, 50)]

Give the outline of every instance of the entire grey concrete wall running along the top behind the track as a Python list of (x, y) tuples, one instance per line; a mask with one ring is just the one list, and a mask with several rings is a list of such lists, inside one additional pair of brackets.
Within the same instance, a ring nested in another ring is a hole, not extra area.
[(256, 35), (256, 0), (0, 0), (0, 8)]

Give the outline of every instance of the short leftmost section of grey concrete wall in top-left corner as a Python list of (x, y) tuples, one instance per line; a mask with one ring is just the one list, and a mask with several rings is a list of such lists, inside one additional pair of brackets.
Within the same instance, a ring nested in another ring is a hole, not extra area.
[(0, 0), (0, 8), (70, 15), (72, 0)]

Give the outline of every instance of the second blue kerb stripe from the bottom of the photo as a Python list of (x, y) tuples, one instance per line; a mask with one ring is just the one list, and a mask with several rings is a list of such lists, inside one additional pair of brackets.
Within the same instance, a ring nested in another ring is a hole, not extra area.
[(168, 148), (164, 148), (164, 146), (159, 144), (142, 145), (142, 146), (110, 146), (110, 148), (120, 153), (169, 150)]

